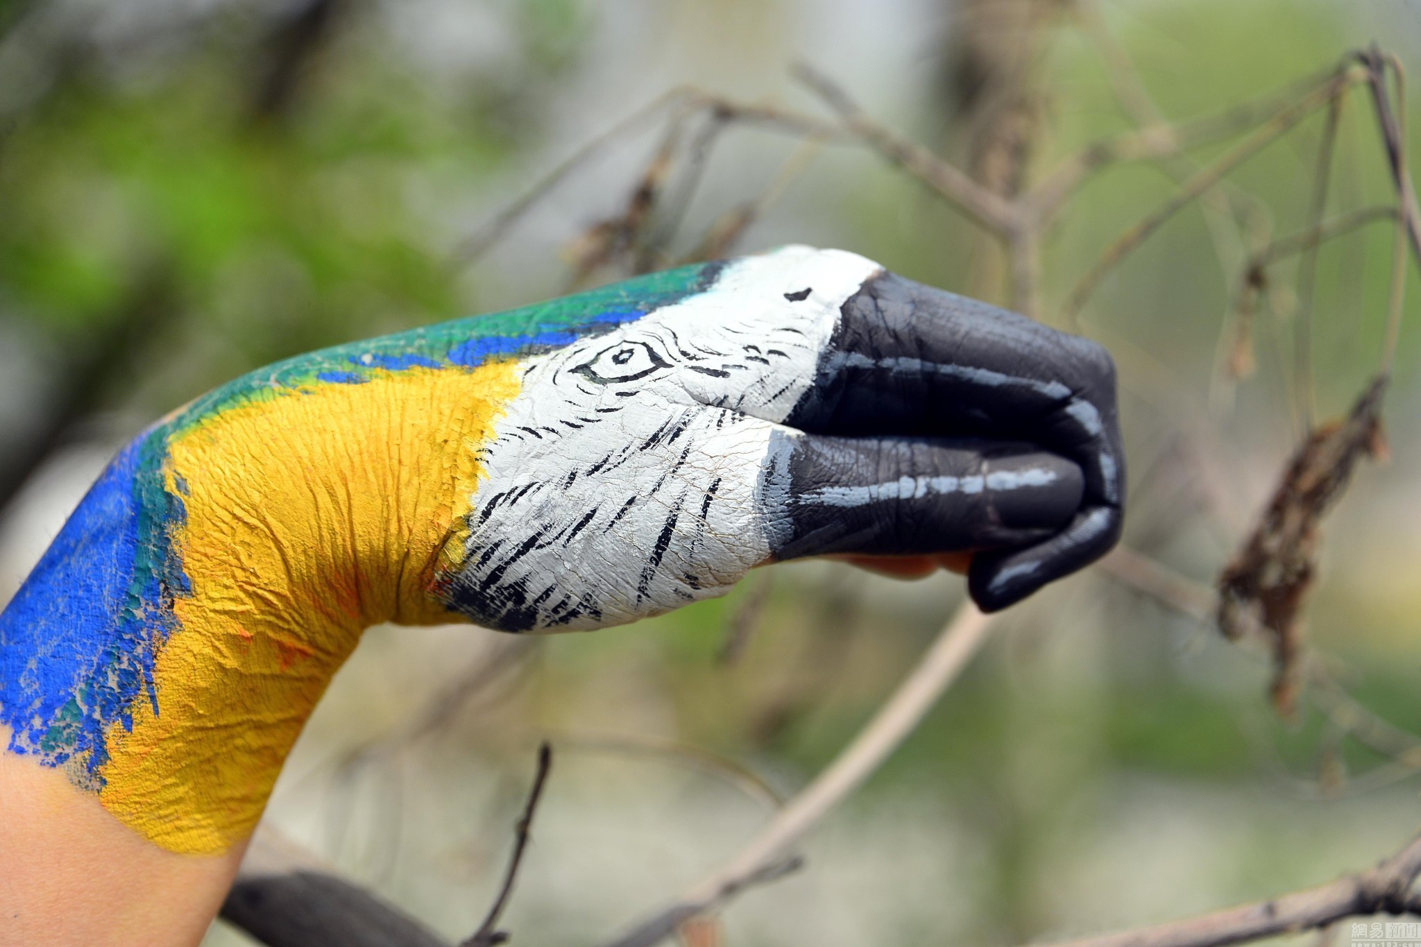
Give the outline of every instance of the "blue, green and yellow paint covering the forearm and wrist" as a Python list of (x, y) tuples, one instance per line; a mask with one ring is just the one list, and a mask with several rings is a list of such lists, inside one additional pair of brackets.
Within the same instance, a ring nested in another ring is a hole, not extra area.
[(141, 434), (0, 613), (9, 750), (172, 850), (243, 838), (360, 630), (458, 619), (431, 589), (520, 361), (716, 270), (298, 356)]

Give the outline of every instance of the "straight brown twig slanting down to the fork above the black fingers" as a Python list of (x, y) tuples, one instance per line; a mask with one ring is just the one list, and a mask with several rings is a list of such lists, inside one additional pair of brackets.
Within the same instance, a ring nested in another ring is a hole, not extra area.
[(992, 193), (922, 145), (880, 125), (844, 89), (813, 67), (799, 62), (793, 71), (797, 80), (838, 112), (848, 131), (872, 146), (890, 163), (932, 187), (948, 203), (988, 230), (1005, 236), (1017, 227), (1017, 212), (1012, 202)]

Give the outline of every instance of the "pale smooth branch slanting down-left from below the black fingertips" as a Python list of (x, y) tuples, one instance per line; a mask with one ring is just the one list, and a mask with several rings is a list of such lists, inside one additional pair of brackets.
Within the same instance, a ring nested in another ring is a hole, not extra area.
[(783, 875), (787, 870), (784, 866), (790, 863), (786, 860), (787, 849), (857, 789), (912, 733), (986, 640), (990, 628), (989, 616), (976, 611), (972, 603), (962, 605), (922, 660), (853, 743), (790, 799), (749, 845), (676, 903), (612, 941), (611, 947), (652, 947), (669, 937), (688, 917), (719, 907), (746, 887)]

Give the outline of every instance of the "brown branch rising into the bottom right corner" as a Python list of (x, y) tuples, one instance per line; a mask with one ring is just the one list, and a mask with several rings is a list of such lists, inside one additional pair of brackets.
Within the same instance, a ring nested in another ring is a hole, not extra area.
[(1411, 893), (1421, 875), (1421, 838), (1377, 867), (1282, 897), (1188, 920), (1054, 941), (1049, 947), (1225, 947), (1277, 934), (1317, 930), (1347, 917), (1421, 913)]

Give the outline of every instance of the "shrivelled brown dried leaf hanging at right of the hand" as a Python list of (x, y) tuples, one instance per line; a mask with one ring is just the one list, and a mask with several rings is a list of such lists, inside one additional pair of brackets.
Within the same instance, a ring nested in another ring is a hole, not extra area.
[(1302, 650), (1300, 612), (1316, 576), (1319, 525), (1361, 456), (1383, 457), (1378, 376), (1346, 419), (1316, 429), (1297, 450), (1262, 520), (1219, 575), (1219, 628), (1238, 639), (1262, 626), (1273, 646), (1273, 704), (1292, 716)]

